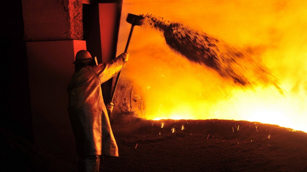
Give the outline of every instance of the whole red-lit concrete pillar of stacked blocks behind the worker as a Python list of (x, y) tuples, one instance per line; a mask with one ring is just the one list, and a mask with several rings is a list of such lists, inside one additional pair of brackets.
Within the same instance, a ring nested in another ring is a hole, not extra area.
[(83, 39), (82, 0), (22, 0), (34, 144), (75, 161), (67, 86)]

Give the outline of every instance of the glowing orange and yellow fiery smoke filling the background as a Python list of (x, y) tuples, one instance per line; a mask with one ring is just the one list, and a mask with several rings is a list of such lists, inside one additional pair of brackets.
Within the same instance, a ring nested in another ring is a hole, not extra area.
[(131, 27), (126, 14), (152, 13), (232, 45), (252, 47), (283, 90), (282, 95), (274, 85), (238, 87), (216, 71), (175, 53), (161, 33), (144, 25), (134, 28), (129, 62), (122, 72), (144, 91), (143, 118), (246, 120), (307, 132), (305, 9), (303, 0), (124, 0), (118, 54), (126, 46)]

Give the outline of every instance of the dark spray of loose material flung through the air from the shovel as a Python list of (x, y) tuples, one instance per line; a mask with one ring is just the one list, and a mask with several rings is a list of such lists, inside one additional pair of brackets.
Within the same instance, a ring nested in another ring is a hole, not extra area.
[(215, 70), (223, 78), (242, 86), (274, 85), (279, 92), (276, 78), (261, 63), (261, 58), (250, 48), (230, 46), (222, 40), (199, 32), (178, 22), (166, 21), (152, 14), (143, 15), (144, 24), (160, 31), (168, 46), (189, 61)]

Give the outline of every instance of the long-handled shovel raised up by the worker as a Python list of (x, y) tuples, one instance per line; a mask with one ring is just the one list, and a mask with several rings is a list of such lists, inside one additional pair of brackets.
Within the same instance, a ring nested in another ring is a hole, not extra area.
[[(127, 50), (128, 50), (128, 46), (129, 46), (130, 38), (131, 38), (131, 35), (132, 35), (133, 27), (134, 26), (141, 26), (144, 22), (144, 17), (128, 13), (126, 21), (128, 23), (132, 24), (132, 26), (131, 26), (130, 34), (129, 34), (128, 41), (127, 41), (127, 44), (126, 44), (125, 52), (127, 52)], [(119, 73), (117, 74), (116, 80), (115, 80), (115, 84), (114, 84), (112, 94), (111, 94), (111, 99), (110, 99), (111, 103), (113, 102), (113, 98), (114, 98), (115, 90), (116, 90), (116, 87), (117, 87), (117, 84), (118, 84), (120, 73), (121, 73), (121, 71), (119, 71)], [(109, 114), (109, 116), (110, 116), (110, 114)]]

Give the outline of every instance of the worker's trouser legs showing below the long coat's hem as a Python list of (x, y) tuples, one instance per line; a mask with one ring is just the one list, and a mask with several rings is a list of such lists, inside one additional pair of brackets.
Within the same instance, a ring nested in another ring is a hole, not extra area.
[(80, 158), (78, 172), (99, 172), (100, 155)]

